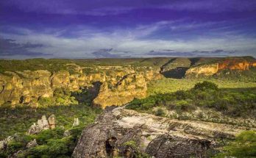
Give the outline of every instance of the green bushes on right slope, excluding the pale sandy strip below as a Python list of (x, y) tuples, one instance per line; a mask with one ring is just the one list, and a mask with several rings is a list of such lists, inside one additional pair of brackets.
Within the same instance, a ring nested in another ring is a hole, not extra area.
[[(127, 108), (164, 115), (163, 109), (193, 113), (198, 108), (211, 109), (229, 117), (255, 118), (256, 88), (221, 88), (213, 82), (197, 83), (191, 90), (178, 90), (135, 99)], [(158, 108), (155, 112), (154, 109)], [(173, 116), (172, 116), (173, 117)], [(182, 118), (181, 118), (182, 119)], [(186, 119), (186, 118), (184, 118)]]

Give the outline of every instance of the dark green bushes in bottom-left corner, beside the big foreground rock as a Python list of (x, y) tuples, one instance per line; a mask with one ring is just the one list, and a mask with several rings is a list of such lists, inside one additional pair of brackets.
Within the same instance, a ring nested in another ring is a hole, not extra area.
[[(16, 134), (15, 140), (8, 144), (5, 151), (0, 151), (0, 157), (7, 157), (22, 150), (18, 157), (71, 157), (77, 144), (79, 135), (85, 126), (76, 126), (68, 129), (71, 133), (64, 137), (64, 129), (57, 128), (44, 130), (37, 135)], [(37, 140), (38, 146), (26, 149), (26, 144), (32, 140)]]

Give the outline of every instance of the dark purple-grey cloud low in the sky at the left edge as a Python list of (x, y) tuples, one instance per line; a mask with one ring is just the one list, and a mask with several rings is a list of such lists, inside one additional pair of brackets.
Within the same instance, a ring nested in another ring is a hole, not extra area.
[(12, 39), (0, 38), (0, 56), (43, 56), (51, 55), (42, 52), (35, 52), (29, 49), (36, 49), (43, 47), (42, 44), (32, 44), (32, 43), (15, 43)]

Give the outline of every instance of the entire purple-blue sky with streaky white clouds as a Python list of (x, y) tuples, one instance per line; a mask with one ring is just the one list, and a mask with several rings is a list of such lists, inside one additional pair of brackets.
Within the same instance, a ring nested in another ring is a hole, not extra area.
[(1, 0), (0, 58), (256, 57), (255, 0)]

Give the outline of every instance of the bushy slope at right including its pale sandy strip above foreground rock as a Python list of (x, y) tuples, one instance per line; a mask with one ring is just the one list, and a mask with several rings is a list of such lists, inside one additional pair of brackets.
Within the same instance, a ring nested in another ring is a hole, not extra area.
[(179, 119), (256, 126), (256, 88), (218, 89), (212, 82), (135, 99), (127, 108)]

